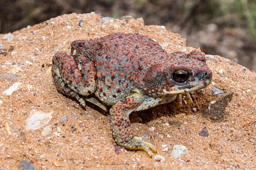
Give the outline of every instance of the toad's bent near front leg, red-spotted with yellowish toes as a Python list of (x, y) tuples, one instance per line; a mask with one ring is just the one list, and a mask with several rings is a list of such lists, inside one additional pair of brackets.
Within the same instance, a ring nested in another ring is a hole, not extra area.
[(156, 153), (155, 146), (144, 141), (143, 138), (131, 134), (129, 115), (132, 111), (145, 110), (156, 106), (161, 101), (161, 98), (155, 99), (139, 93), (133, 93), (133, 95), (113, 105), (110, 114), (111, 128), (115, 142), (127, 150), (143, 150), (151, 158), (153, 153)]

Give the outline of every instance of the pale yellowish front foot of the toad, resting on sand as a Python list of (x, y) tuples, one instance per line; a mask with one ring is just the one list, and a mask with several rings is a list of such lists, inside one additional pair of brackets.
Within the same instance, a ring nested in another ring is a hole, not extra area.
[(156, 147), (153, 144), (144, 141), (142, 137), (138, 136), (133, 136), (124, 147), (127, 150), (143, 150), (150, 158), (152, 158), (153, 153), (157, 153)]

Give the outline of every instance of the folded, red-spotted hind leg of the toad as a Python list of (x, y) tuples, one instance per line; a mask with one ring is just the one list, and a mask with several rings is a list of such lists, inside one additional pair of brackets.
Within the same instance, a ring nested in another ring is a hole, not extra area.
[(52, 75), (60, 93), (76, 98), (83, 106), (84, 99), (96, 90), (96, 70), (92, 61), (79, 55), (74, 60), (66, 53), (56, 53), (52, 60)]

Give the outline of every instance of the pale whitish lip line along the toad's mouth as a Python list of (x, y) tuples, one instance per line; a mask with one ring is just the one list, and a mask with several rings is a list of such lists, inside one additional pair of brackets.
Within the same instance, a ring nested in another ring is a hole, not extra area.
[(193, 91), (197, 91), (200, 89), (204, 89), (206, 86), (208, 86), (211, 83), (211, 80), (205, 80), (202, 83), (197, 83), (197, 84), (186, 84), (186, 85), (175, 85), (172, 87), (172, 90), (167, 91), (167, 90), (163, 90), (163, 95), (178, 95), (178, 94), (182, 94), (182, 93), (190, 93)]

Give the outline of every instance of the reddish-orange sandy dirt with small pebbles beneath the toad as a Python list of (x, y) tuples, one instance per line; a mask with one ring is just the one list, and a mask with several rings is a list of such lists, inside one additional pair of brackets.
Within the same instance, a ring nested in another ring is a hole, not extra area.
[[(78, 26), (81, 20), (82, 27)], [(221, 56), (209, 56), (213, 82), (205, 93), (193, 95), (194, 104), (176, 110), (173, 102), (149, 110), (148, 115), (144, 111), (142, 120), (132, 116), (133, 134), (151, 133), (162, 161), (141, 151), (117, 148), (108, 113), (94, 106), (84, 109), (58, 93), (50, 72), (54, 53), (69, 53), (73, 40), (115, 32), (149, 36), (168, 52), (192, 50), (180, 35), (164, 27), (144, 26), (142, 18), (108, 20), (94, 13), (52, 18), (11, 33), (14, 39), (10, 42), (0, 35), (4, 46), (0, 54), (0, 169), (17, 169), (23, 160), (31, 161), (35, 169), (256, 169), (256, 74)], [(3, 94), (17, 82), (21, 89), (10, 96)], [(224, 121), (202, 117), (202, 108), (215, 98), (211, 87), (234, 93)], [(163, 110), (168, 106), (170, 110)], [(25, 129), (32, 110), (53, 112), (47, 124), (50, 134), (42, 135), (43, 128)], [(182, 113), (186, 115), (172, 116)], [(68, 121), (60, 123), (63, 116)], [(170, 125), (172, 121), (181, 126)], [(204, 128), (208, 137), (199, 135)], [(171, 158), (176, 144), (186, 146), (189, 154)]]

